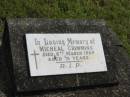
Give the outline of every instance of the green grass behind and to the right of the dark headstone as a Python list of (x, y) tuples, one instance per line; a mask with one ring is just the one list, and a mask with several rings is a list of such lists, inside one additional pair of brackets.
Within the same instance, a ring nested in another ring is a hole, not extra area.
[(104, 19), (130, 54), (130, 0), (1, 0), (0, 17)]

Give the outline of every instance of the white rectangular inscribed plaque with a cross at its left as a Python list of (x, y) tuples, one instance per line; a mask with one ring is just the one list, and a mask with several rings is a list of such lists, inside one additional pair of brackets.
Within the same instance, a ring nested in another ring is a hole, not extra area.
[(31, 76), (107, 71), (99, 33), (26, 34)]

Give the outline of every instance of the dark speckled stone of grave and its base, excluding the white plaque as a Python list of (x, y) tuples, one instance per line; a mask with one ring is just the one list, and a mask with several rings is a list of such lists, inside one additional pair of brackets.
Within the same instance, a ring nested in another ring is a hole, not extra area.
[[(101, 33), (108, 72), (31, 78), (25, 33)], [(18, 97), (128, 97), (128, 56), (104, 21), (9, 19), (3, 48)]]

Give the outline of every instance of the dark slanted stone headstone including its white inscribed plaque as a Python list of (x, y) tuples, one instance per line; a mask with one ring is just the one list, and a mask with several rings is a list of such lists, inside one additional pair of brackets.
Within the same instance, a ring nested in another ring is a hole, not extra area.
[(121, 44), (102, 21), (9, 19), (3, 43), (17, 93), (118, 83), (110, 49)]

